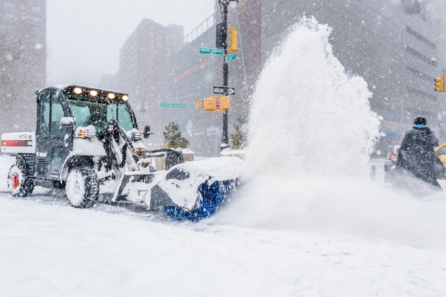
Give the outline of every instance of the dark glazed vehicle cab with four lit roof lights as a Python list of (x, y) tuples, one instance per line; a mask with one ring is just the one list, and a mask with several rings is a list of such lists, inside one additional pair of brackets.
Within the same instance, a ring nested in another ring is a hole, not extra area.
[[(138, 128), (127, 99), (124, 93), (81, 86), (40, 90), (37, 96), (36, 178), (60, 180), (69, 156), (94, 156), (95, 152), (84, 152), (82, 145), (74, 147), (73, 152), (74, 140), (89, 141), (86, 138), (94, 138), (108, 128), (111, 119), (117, 119), (126, 131)], [(95, 135), (80, 134), (82, 128), (91, 126), (95, 128)]]

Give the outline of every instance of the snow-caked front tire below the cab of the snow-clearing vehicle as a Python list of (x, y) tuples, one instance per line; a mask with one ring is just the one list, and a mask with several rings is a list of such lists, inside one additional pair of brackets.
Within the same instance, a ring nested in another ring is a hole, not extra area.
[(93, 206), (99, 195), (99, 182), (89, 167), (71, 169), (65, 182), (65, 191), (71, 206), (86, 209)]

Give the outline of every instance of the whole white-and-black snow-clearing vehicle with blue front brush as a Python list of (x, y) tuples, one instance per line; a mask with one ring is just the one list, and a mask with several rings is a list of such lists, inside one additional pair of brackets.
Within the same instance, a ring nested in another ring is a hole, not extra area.
[(60, 188), (72, 206), (89, 208), (106, 188), (113, 194), (101, 196), (104, 202), (145, 204), (172, 219), (199, 220), (237, 187), (237, 158), (185, 163), (174, 150), (148, 150), (142, 140), (150, 126), (139, 130), (126, 93), (71, 85), (36, 95), (36, 131), (1, 136), (1, 152), (16, 157), (8, 173), (14, 196), (30, 195), (36, 185)]

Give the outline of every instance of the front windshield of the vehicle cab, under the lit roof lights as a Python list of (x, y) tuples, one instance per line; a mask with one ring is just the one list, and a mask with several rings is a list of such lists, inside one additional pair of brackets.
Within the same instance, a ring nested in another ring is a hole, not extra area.
[(100, 130), (108, 128), (110, 119), (117, 119), (126, 131), (137, 128), (132, 120), (132, 113), (124, 102), (108, 104), (104, 100), (93, 101), (90, 97), (79, 95), (70, 94), (67, 97), (71, 113), (76, 119), (76, 128), (93, 125), (99, 133)]

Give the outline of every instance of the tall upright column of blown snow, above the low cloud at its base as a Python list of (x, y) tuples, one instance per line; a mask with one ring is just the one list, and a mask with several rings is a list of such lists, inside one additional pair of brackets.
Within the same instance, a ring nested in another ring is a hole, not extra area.
[(248, 174), (368, 174), (379, 131), (366, 81), (333, 56), (331, 28), (303, 17), (253, 95)]

